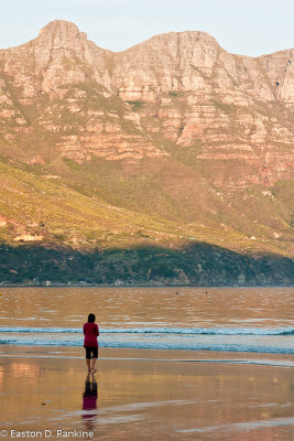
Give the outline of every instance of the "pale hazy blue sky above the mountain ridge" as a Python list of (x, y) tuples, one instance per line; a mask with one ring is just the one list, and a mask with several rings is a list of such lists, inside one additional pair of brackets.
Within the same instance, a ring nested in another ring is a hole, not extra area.
[(229, 52), (261, 55), (294, 46), (293, 0), (0, 0), (0, 47), (68, 20), (101, 47), (128, 49), (170, 31), (205, 31)]

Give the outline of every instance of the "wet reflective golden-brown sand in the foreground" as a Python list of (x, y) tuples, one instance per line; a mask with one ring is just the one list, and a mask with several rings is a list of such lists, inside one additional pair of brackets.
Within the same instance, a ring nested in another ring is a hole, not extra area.
[(31, 431), (22, 439), (51, 432), (113, 441), (294, 438), (293, 367), (283, 366), (285, 356), (255, 354), (257, 364), (248, 364), (244, 354), (101, 348), (97, 374), (87, 378), (83, 348), (0, 352), (4, 439), (17, 439), (13, 430)]

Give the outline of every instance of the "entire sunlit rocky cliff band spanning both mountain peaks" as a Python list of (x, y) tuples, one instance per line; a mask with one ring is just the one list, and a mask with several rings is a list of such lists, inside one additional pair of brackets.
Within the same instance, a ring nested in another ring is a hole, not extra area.
[(252, 58), (182, 32), (111, 53), (56, 20), (0, 63), (1, 148), (26, 162), (137, 162), (167, 142), (220, 186), (291, 176), (294, 50)]

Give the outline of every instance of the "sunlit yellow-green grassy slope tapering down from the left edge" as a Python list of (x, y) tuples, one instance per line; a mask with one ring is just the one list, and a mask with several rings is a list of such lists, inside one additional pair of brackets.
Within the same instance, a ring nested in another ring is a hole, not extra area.
[(0, 161), (1, 215), (8, 222), (1, 228), (2, 240), (13, 243), (15, 236), (28, 233), (43, 235), (47, 244), (89, 247), (92, 241), (95, 246), (120, 240), (126, 244), (129, 237), (137, 241), (142, 228), (167, 236), (174, 232), (171, 222), (116, 207), (90, 192), (83, 194), (59, 179), (30, 169)]

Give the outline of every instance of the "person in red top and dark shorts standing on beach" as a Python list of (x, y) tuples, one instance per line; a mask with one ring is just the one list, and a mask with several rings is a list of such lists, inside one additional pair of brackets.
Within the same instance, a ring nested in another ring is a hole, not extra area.
[(84, 347), (86, 349), (86, 362), (88, 372), (95, 373), (95, 364), (98, 358), (98, 335), (99, 335), (99, 327), (95, 323), (95, 315), (88, 315), (88, 322), (84, 324)]

